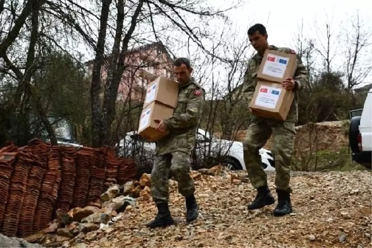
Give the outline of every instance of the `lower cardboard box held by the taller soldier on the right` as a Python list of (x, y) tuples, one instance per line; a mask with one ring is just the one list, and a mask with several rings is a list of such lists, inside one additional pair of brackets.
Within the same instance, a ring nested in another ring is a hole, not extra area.
[(269, 119), (286, 120), (295, 93), (282, 84), (259, 80), (249, 105), (252, 113)]

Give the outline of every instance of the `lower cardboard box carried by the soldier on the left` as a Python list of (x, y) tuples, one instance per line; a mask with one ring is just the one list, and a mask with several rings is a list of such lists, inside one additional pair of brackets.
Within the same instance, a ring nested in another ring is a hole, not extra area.
[(173, 115), (174, 108), (160, 102), (152, 102), (142, 110), (137, 133), (148, 141), (157, 141), (168, 135), (166, 132), (158, 132), (158, 123), (154, 119), (166, 119)]

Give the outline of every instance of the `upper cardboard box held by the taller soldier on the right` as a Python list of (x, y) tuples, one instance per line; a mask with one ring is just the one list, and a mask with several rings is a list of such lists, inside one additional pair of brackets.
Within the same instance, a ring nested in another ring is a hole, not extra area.
[(285, 78), (294, 77), (297, 69), (295, 54), (286, 54), (266, 49), (257, 78), (282, 83)]

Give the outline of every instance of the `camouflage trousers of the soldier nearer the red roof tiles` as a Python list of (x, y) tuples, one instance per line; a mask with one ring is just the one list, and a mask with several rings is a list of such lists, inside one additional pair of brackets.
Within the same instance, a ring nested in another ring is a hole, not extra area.
[(190, 196), (195, 191), (194, 181), (190, 177), (190, 155), (185, 152), (172, 152), (155, 157), (151, 171), (151, 195), (155, 203), (168, 202), (168, 178), (170, 171), (178, 182), (178, 191), (182, 196)]

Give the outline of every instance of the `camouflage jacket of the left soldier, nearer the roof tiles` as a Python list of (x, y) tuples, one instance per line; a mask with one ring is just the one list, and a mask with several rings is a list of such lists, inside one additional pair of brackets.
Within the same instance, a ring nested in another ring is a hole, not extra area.
[(189, 83), (179, 85), (173, 116), (163, 120), (169, 134), (157, 142), (155, 151), (158, 155), (175, 151), (190, 154), (194, 147), (204, 100), (205, 91), (194, 78), (191, 78)]

